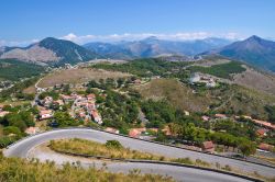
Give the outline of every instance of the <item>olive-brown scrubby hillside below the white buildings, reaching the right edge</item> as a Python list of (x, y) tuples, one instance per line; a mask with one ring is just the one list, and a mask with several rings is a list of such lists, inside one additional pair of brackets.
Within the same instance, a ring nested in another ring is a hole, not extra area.
[(268, 118), (266, 105), (275, 103), (275, 96), (237, 84), (226, 84), (217, 89), (195, 93), (187, 84), (175, 79), (155, 79), (134, 87), (144, 99), (167, 100), (182, 111), (217, 112), (254, 115)]

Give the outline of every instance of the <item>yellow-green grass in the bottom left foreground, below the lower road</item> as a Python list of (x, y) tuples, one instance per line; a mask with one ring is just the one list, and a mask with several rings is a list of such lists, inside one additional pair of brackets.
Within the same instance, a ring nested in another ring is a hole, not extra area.
[[(134, 179), (134, 180), (133, 180)], [(80, 163), (74, 166), (66, 163), (57, 168), (54, 162), (41, 163), (37, 160), (26, 161), (18, 158), (0, 157), (0, 181), (24, 182), (172, 182), (172, 178), (141, 174), (139, 170), (130, 171), (129, 174), (107, 172), (103, 168), (84, 169)]]

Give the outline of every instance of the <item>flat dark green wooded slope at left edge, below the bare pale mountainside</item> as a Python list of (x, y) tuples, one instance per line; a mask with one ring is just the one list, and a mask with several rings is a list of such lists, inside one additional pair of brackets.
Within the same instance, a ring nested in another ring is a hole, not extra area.
[(28, 64), (15, 59), (2, 59), (0, 61), (0, 78), (18, 81), (20, 79), (38, 76), (44, 71), (44, 67)]

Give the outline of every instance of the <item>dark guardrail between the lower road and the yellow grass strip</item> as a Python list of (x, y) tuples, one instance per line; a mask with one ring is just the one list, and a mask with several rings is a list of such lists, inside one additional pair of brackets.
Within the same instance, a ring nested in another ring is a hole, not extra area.
[(233, 175), (233, 177), (242, 178), (242, 179), (250, 180), (250, 181), (263, 182), (263, 180), (252, 178), (252, 177), (248, 177), (248, 175), (238, 174), (238, 173), (230, 172), (230, 171), (222, 171), (222, 170), (218, 170), (218, 169), (204, 168), (204, 167), (191, 166), (191, 164), (186, 164), (186, 163), (157, 161), (157, 160), (139, 160), (139, 159), (111, 158), (111, 157), (106, 157), (106, 156), (80, 155), (80, 153), (68, 152), (68, 151), (56, 151), (56, 152), (59, 152), (59, 153), (63, 153), (63, 155), (75, 156), (75, 157), (95, 158), (95, 159), (103, 159), (103, 160), (112, 160), (112, 161), (121, 161), (121, 162), (154, 163), (154, 164), (166, 164), (166, 166), (174, 166), (174, 167), (193, 168), (193, 169), (199, 169), (199, 170), (205, 170), (205, 171), (212, 171), (212, 172), (217, 172), (217, 173), (222, 173), (222, 174), (227, 174), (227, 175)]

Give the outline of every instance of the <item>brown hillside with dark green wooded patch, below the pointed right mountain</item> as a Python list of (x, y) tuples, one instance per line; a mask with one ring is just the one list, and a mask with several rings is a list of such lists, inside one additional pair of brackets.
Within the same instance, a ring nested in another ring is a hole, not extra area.
[(221, 56), (206, 56), (191, 64), (191, 72), (204, 72), (221, 78), (226, 82), (235, 83), (261, 92), (275, 94), (275, 76)]

